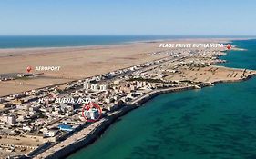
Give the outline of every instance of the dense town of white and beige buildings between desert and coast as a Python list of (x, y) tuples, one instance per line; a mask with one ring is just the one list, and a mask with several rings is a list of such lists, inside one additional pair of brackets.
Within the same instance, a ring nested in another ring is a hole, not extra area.
[[(198, 55), (199, 52), (186, 51), (186, 54)], [(176, 73), (178, 69), (168, 70), (163, 65), (173, 59), (177, 59), (179, 65), (187, 65), (184, 60), (180, 60), (183, 59), (182, 54), (177, 50), (150, 55), (165, 56), (85, 80), (0, 98), (1, 134), (29, 134), (40, 136), (42, 143), (56, 142), (62, 136), (85, 126), (85, 118), (97, 120), (101, 113), (116, 111), (156, 89), (179, 86), (179, 83), (165, 80), (167, 73)], [(83, 112), (85, 104), (90, 102), (98, 104), (102, 111), (92, 107)]]

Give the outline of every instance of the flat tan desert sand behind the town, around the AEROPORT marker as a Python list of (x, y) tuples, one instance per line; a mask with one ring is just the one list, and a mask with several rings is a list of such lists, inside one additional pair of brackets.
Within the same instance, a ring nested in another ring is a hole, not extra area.
[[(0, 82), (0, 96), (15, 94), (50, 84), (100, 75), (138, 65), (163, 56), (147, 54), (169, 50), (159, 47), (160, 43), (225, 43), (229, 39), (179, 39), (172, 41), (137, 42), (123, 45), (97, 45), (60, 48), (0, 49), (0, 75), (26, 73), (32, 66), (32, 73), (44, 73), (36, 78)], [(35, 71), (36, 66), (60, 66), (59, 71)]]

